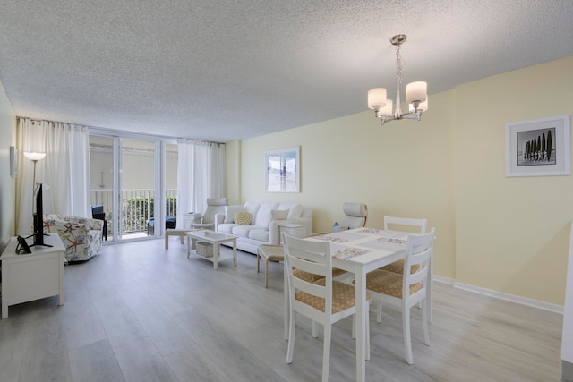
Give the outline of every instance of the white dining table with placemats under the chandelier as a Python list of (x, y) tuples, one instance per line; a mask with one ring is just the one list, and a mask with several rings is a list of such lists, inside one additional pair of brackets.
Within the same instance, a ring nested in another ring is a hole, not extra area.
[[(356, 299), (356, 381), (363, 382), (366, 372), (366, 275), (372, 270), (404, 259), (409, 233), (376, 228), (355, 228), (337, 233), (311, 236), (306, 240), (330, 242), (332, 267), (355, 275)], [(432, 269), (432, 267), (430, 267)], [(431, 274), (431, 272), (429, 272)], [(428, 278), (428, 310), (432, 311), (432, 275)], [(285, 278), (285, 291), (286, 278)], [(288, 337), (288, 296), (285, 293), (285, 338)], [(430, 315), (428, 317), (431, 317)]]

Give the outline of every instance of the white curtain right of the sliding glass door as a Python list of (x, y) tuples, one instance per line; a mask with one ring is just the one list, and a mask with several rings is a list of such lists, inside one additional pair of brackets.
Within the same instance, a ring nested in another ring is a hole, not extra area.
[(202, 215), (207, 198), (226, 195), (225, 145), (179, 140), (177, 156), (177, 227), (182, 227), (184, 213)]

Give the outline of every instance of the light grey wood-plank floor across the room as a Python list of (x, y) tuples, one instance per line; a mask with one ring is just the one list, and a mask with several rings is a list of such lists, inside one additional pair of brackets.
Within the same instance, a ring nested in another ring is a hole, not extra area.
[[(269, 289), (256, 256), (192, 256), (176, 239), (105, 246), (65, 267), (65, 304), (48, 298), (0, 321), (0, 381), (318, 381), (322, 336), (299, 318), (286, 364), (282, 264)], [(223, 250), (228, 250), (224, 248)], [(404, 358), (401, 316), (371, 310), (369, 381), (559, 381), (562, 316), (435, 284), (431, 346), (413, 309), (414, 365)], [(330, 381), (355, 379), (352, 319), (332, 335)]]

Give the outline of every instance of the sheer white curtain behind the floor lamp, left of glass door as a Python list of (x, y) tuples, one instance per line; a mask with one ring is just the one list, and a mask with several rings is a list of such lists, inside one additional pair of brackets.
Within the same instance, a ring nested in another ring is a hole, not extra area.
[(90, 217), (90, 134), (85, 126), (18, 118), (16, 227), (31, 231), (34, 165), (24, 152), (45, 152), (36, 165), (44, 214)]

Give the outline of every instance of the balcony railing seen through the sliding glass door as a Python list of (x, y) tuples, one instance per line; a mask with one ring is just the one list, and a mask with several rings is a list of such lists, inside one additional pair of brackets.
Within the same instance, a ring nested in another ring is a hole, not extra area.
[[(91, 205), (102, 205), (107, 220), (107, 234), (113, 234), (111, 190), (91, 190)], [(155, 191), (123, 190), (121, 206), (121, 226), (123, 233), (147, 232), (148, 222), (154, 216)], [(166, 216), (177, 214), (177, 190), (166, 190)]]

